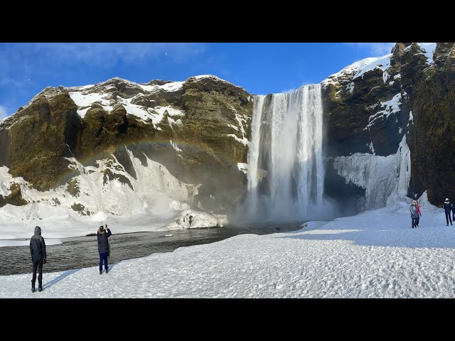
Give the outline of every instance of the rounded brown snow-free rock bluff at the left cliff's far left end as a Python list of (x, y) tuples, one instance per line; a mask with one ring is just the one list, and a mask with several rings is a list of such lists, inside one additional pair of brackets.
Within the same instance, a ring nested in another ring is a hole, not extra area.
[(70, 156), (66, 144), (71, 123), (77, 117), (77, 107), (68, 93), (51, 99), (38, 97), (35, 102), (11, 117), (9, 129), (2, 129), (4, 141), (9, 141), (1, 160), (11, 175), (21, 176), (38, 190), (48, 190), (66, 171)]

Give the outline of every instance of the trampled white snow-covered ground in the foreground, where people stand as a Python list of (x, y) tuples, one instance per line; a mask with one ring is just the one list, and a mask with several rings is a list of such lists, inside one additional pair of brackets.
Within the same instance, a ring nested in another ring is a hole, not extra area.
[(398, 202), (297, 232), (243, 234), (121, 261), (102, 276), (97, 266), (45, 273), (41, 293), (31, 293), (31, 274), (0, 276), (0, 297), (453, 298), (455, 225), (420, 203), (416, 229), (409, 202)]

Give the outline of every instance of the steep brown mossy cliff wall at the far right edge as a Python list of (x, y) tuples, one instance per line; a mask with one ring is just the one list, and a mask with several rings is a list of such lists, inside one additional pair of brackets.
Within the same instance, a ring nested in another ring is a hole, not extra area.
[(440, 206), (446, 197), (455, 200), (454, 43), (438, 43), (433, 59), (434, 65), (421, 69), (407, 90), (414, 122), (408, 135), (414, 193), (427, 190), (429, 201)]

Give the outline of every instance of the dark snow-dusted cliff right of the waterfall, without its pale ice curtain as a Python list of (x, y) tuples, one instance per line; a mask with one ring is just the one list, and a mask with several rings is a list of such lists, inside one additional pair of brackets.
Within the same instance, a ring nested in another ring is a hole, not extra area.
[[(328, 183), (340, 175), (331, 167), (338, 157), (397, 155), (405, 141), (410, 149), (407, 195), (419, 197), (427, 190), (434, 205), (454, 198), (454, 58), (454, 43), (397, 43), (389, 55), (360, 60), (324, 80)], [(390, 171), (399, 178), (404, 170)], [(353, 191), (352, 185), (326, 190), (338, 200), (358, 199), (365, 186)]]

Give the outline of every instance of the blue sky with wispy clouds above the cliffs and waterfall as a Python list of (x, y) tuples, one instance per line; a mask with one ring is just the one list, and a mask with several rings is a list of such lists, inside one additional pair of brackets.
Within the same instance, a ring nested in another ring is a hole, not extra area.
[(321, 82), (392, 43), (0, 43), (0, 119), (45, 87), (217, 75), (252, 94)]

